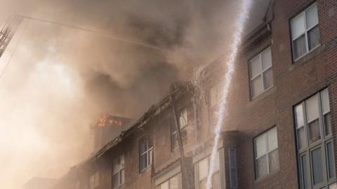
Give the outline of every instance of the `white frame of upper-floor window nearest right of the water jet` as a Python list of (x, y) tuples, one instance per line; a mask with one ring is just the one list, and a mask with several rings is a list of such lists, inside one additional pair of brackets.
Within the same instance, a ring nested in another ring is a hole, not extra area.
[[(273, 63), (270, 64), (270, 66), (268, 66), (267, 68), (263, 69), (263, 59), (262, 59), (262, 54), (263, 52), (265, 52), (265, 50), (270, 49), (270, 59), (272, 61), (272, 45), (267, 45), (267, 47), (263, 48), (263, 50), (260, 50), (258, 53), (256, 53), (256, 55), (254, 55), (253, 57), (251, 57), (248, 60), (248, 77), (249, 77), (249, 94), (250, 94), (250, 98), (251, 100), (256, 99), (258, 96), (260, 96), (261, 94), (263, 94), (264, 92), (266, 92), (267, 90), (270, 90), (272, 87), (274, 87), (275, 85), (275, 79), (274, 79), (274, 71), (273, 71)], [(252, 76), (251, 75), (251, 60), (257, 58), (260, 60), (259, 65), (260, 65), (260, 71), (256, 76)], [(265, 82), (264, 82), (264, 78), (263, 78), (263, 74), (267, 71), (271, 70), (272, 71), (272, 85), (270, 85), (270, 87), (265, 88)], [(256, 94), (255, 96), (253, 96), (253, 80), (261, 77), (261, 82), (262, 82), (262, 91), (259, 94)]]

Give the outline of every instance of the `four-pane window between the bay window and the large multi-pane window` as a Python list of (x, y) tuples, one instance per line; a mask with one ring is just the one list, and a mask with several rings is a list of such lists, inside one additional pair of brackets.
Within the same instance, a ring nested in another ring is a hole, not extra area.
[(256, 179), (279, 169), (276, 127), (254, 139)]

